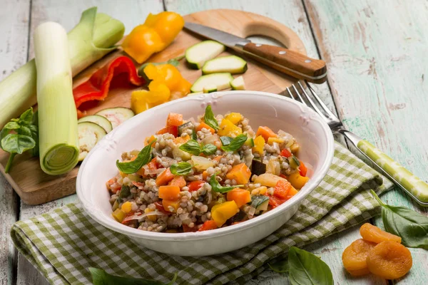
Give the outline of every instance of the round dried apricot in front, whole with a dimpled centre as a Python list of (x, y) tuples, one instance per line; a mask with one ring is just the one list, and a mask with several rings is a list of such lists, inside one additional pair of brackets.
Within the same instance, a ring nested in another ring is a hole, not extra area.
[(384, 279), (397, 279), (412, 268), (412, 254), (397, 242), (381, 242), (370, 250), (367, 266), (372, 274)]

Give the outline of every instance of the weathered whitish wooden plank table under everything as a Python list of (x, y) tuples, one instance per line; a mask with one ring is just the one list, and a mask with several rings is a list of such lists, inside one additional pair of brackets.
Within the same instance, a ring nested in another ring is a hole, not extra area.
[[(0, 0), (0, 80), (33, 58), (36, 26), (49, 20), (70, 29), (90, 6), (123, 21), (126, 33), (148, 13), (164, 10), (189, 14), (241, 9), (290, 26), (302, 38), (309, 56), (327, 61), (328, 85), (318, 89), (347, 128), (428, 179), (427, 0)], [(19, 219), (76, 199), (73, 195), (28, 206), (0, 175), (0, 284), (47, 284), (16, 252), (9, 230)], [(397, 189), (382, 199), (428, 213)], [(372, 222), (382, 225), (380, 219)], [(411, 250), (413, 268), (403, 279), (350, 278), (342, 268), (341, 255), (359, 237), (355, 227), (306, 249), (327, 262), (335, 284), (427, 284), (428, 252), (422, 249)], [(287, 284), (287, 276), (265, 271), (252, 284)]]

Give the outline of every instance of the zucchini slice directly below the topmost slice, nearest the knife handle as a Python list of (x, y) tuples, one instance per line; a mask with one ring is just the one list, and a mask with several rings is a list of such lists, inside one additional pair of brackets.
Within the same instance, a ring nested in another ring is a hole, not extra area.
[(218, 72), (244, 73), (247, 71), (247, 61), (239, 56), (222, 56), (207, 61), (202, 68), (202, 74), (211, 74)]

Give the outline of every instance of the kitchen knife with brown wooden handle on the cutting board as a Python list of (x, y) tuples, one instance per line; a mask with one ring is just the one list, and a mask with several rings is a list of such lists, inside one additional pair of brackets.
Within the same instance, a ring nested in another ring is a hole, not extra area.
[(246, 38), (240, 38), (231, 33), (200, 24), (186, 22), (184, 27), (200, 36), (223, 43), (228, 48), (232, 48), (238, 53), (243, 53), (245, 56), (289, 76), (305, 79), (312, 83), (323, 83), (327, 79), (325, 61), (309, 58), (302, 55), (302, 53), (280, 48), (279, 46), (252, 43)]

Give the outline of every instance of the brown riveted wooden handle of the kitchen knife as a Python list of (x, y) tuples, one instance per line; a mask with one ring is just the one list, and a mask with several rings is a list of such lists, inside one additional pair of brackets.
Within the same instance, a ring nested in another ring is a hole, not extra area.
[(260, 43), (247, 43), (243, 50), (247, 56), (289, 76), (317, 84), (327, 79), (327, 66), (325, 61), (320, 59), (309, 58), (287, 48)]

